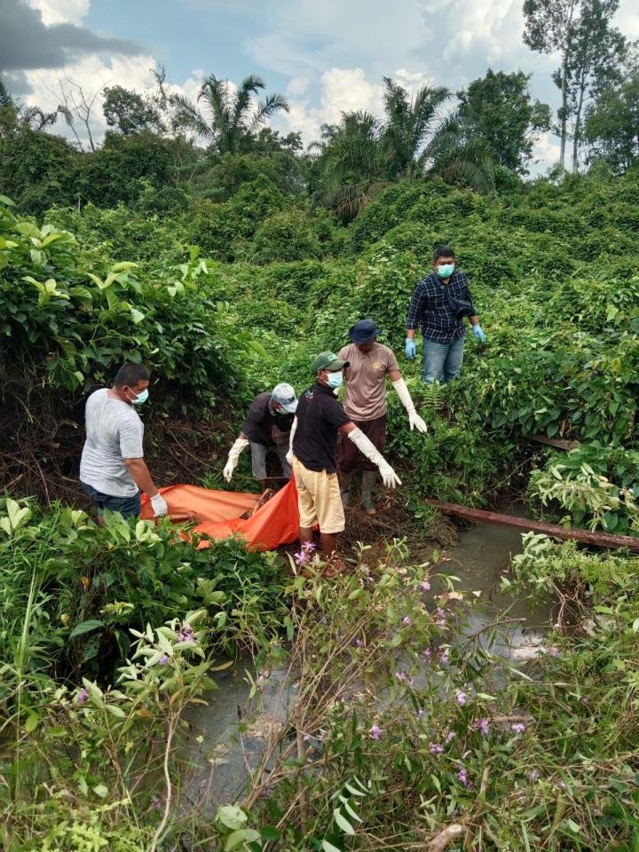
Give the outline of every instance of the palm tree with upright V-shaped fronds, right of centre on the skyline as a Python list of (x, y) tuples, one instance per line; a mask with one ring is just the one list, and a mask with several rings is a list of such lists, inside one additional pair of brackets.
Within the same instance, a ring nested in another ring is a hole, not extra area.
[(444, 86), (422, 86), (411, 100), (406, 89), (391, 77), (384, 77), (383, 81), (386, 125), (382, 143), (389, 152), (390, 172), (396, 180), (414, 179), (423, 174), (428, 159), (427, 139), (436, 131), (433, 125), (450, 92)]

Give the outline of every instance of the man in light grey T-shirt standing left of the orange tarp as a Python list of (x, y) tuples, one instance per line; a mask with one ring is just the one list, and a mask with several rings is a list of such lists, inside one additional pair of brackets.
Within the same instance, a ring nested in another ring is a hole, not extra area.
[(148, 399), (149, 372), (141, 364), (124, 364), (112, 388), (95, 390), (85, 408), (86, 439), (80, 482), (98, 509), (138, 517), (140, 492), (148, 494), (157, 517), (168, 507), (144, 460), (144, 424), (134, 406)]

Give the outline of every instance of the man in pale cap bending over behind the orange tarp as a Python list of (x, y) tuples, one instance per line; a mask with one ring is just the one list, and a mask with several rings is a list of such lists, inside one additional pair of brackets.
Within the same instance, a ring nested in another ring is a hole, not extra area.
[(264, 490), (268, 485), (266, 454), (270, 449), (275, 450), (280, 457), (282, 476), (290, 478), (291, 467), (287, 461), (287, 452), (296, 408), (295, 390), (285, 382), (276, 385), (270, 392), (257, 394), (248, 409), (240, 438), (237, 438), (229, 451), (224, 469), (226, 482), (231, 482), (241, 451), (249, 445), (253, 476)]

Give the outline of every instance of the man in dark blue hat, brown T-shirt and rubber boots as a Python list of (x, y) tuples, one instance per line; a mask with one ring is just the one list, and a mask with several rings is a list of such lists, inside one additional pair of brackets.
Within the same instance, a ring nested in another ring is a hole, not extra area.
[[(344, 411), (352, 422), (367, 436), (380, 453), (386, 443), (386, 376), (390, 378), (408, 414), (411, 429), (426, 431), (426, 423), (415, 411), (406, 382), (399, 372), (398, 359), (388, 346), (377, 343), (380, 329), (372, 319), (361, 319), (349, 328), (350, 345), (344, 346), (339, 357), (348, 362), (344, 368), (346, 397)], [(351, 502), (351, 485), (358, 462), (357, 447), (344, 441), (340, 459), (342, 501), (344, 506)], [(361, 502), (369, 515), (375, 514), (373, 489), (377, 469), (367, 459), (364, 461)]]

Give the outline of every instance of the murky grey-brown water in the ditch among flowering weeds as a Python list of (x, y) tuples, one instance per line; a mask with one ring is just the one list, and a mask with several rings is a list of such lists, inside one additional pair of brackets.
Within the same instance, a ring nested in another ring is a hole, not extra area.
[[(521, 507), (502, 510), (518, 514)], [(552, 616), (549, 605), (533, 605), (525, 596), (512, 596), (500, 588), (511, 556), (521, 551), (519, 531), (479, 524), (462, 531), (456, 546), (441, 553), (438, 564), (438, 571), (450, 576), (454, 593), (473, 603), (460, 622), (458, 638), (474, 637), (514, 665), (544, 652), (544, 634)], [(427, 562), (431, 553), (414, 554), (412, 561)], [(438, 596), (450, 588), (441, 579), (433, 580), (432, 604), (428, 605), (434, 609)], [(456, 602), (455, 596), (448, 600)], [(489, 628), (496, 623), (499, 630), (493, 632)], [(428, 678), (428, 669), (424, 662), (416, 683)], [(248, 657), (238, 659), (216, 680), (218, 690), (206, 697), (205, 706), (189, 714), (185, 747), (192, 773), (185, 785), (184, 806), (201, 807), (205, 813), (212, 813), (222, 802), (241, 798), (249, 774), (264, 758), (268, 741), (286, 725), (297, 695), (296, 673), (288, 666), (256, 671)], [(377, 703), (387, 705), (389, 690), (383, 682), (375, 684), (373, 676), (366, 688), (376, 688)], [(295, 733), (291, 731), (289, 737)], [(307, 735), (306, 740), (311, 752), (319, 748), (319, 738)]]

